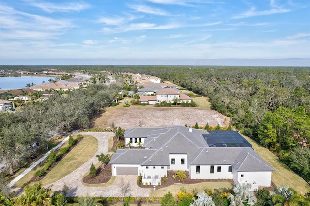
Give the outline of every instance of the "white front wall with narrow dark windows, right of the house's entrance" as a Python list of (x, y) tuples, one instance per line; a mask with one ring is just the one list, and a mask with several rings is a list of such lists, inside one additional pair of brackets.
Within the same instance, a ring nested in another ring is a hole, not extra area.
[[(189, 175), (192, 179), (233, 179), (233, 172), (228, 172), (231, 165), (213, 165), (214, 173), (210, 173), (211, 165), (200, 165), (200, 173), (196, 173), (196, 165), (190, 165)], [(217, 172), (217, 167), (221, 167), (221, 172)]]

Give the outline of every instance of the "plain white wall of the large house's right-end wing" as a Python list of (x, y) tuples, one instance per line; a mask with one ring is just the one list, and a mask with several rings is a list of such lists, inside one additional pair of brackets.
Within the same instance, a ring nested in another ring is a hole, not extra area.
[[(256, 184), (270, 187), (271, 185), (271, 171), (254, 171), (254, 172), (238, 172), (237, 181), (239, 183), (251, 183), (255, 181)], [(243, 177), (241, 177), (243, 175)], [(236, 181), (234, 179), (234, 181)]]

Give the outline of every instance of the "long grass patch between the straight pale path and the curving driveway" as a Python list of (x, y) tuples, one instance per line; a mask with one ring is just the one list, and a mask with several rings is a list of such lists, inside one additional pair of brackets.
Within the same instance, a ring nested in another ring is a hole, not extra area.
[(41, 180), (42, 184), (51, 184), (70, 174), (92, 158), (97, 148), (98, 140), (96, 138), (93, 136), (84, 136), (83, 140)]

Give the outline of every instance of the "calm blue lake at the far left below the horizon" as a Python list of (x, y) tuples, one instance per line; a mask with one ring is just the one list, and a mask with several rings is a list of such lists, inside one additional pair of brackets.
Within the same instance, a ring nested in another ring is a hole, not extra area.
[(52, 76), (4, 76), (0, 77), (0, 90), (11, 90), (27, 88), (26, 84), (30, 83), (40, 85), (48, 82), (48, 79), (54, 79)]

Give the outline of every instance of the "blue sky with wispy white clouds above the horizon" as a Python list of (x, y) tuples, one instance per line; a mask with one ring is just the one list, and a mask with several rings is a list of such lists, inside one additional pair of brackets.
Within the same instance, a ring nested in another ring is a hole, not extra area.
[(0, 1), (0, 64), (309, 57), (309, 0)]

